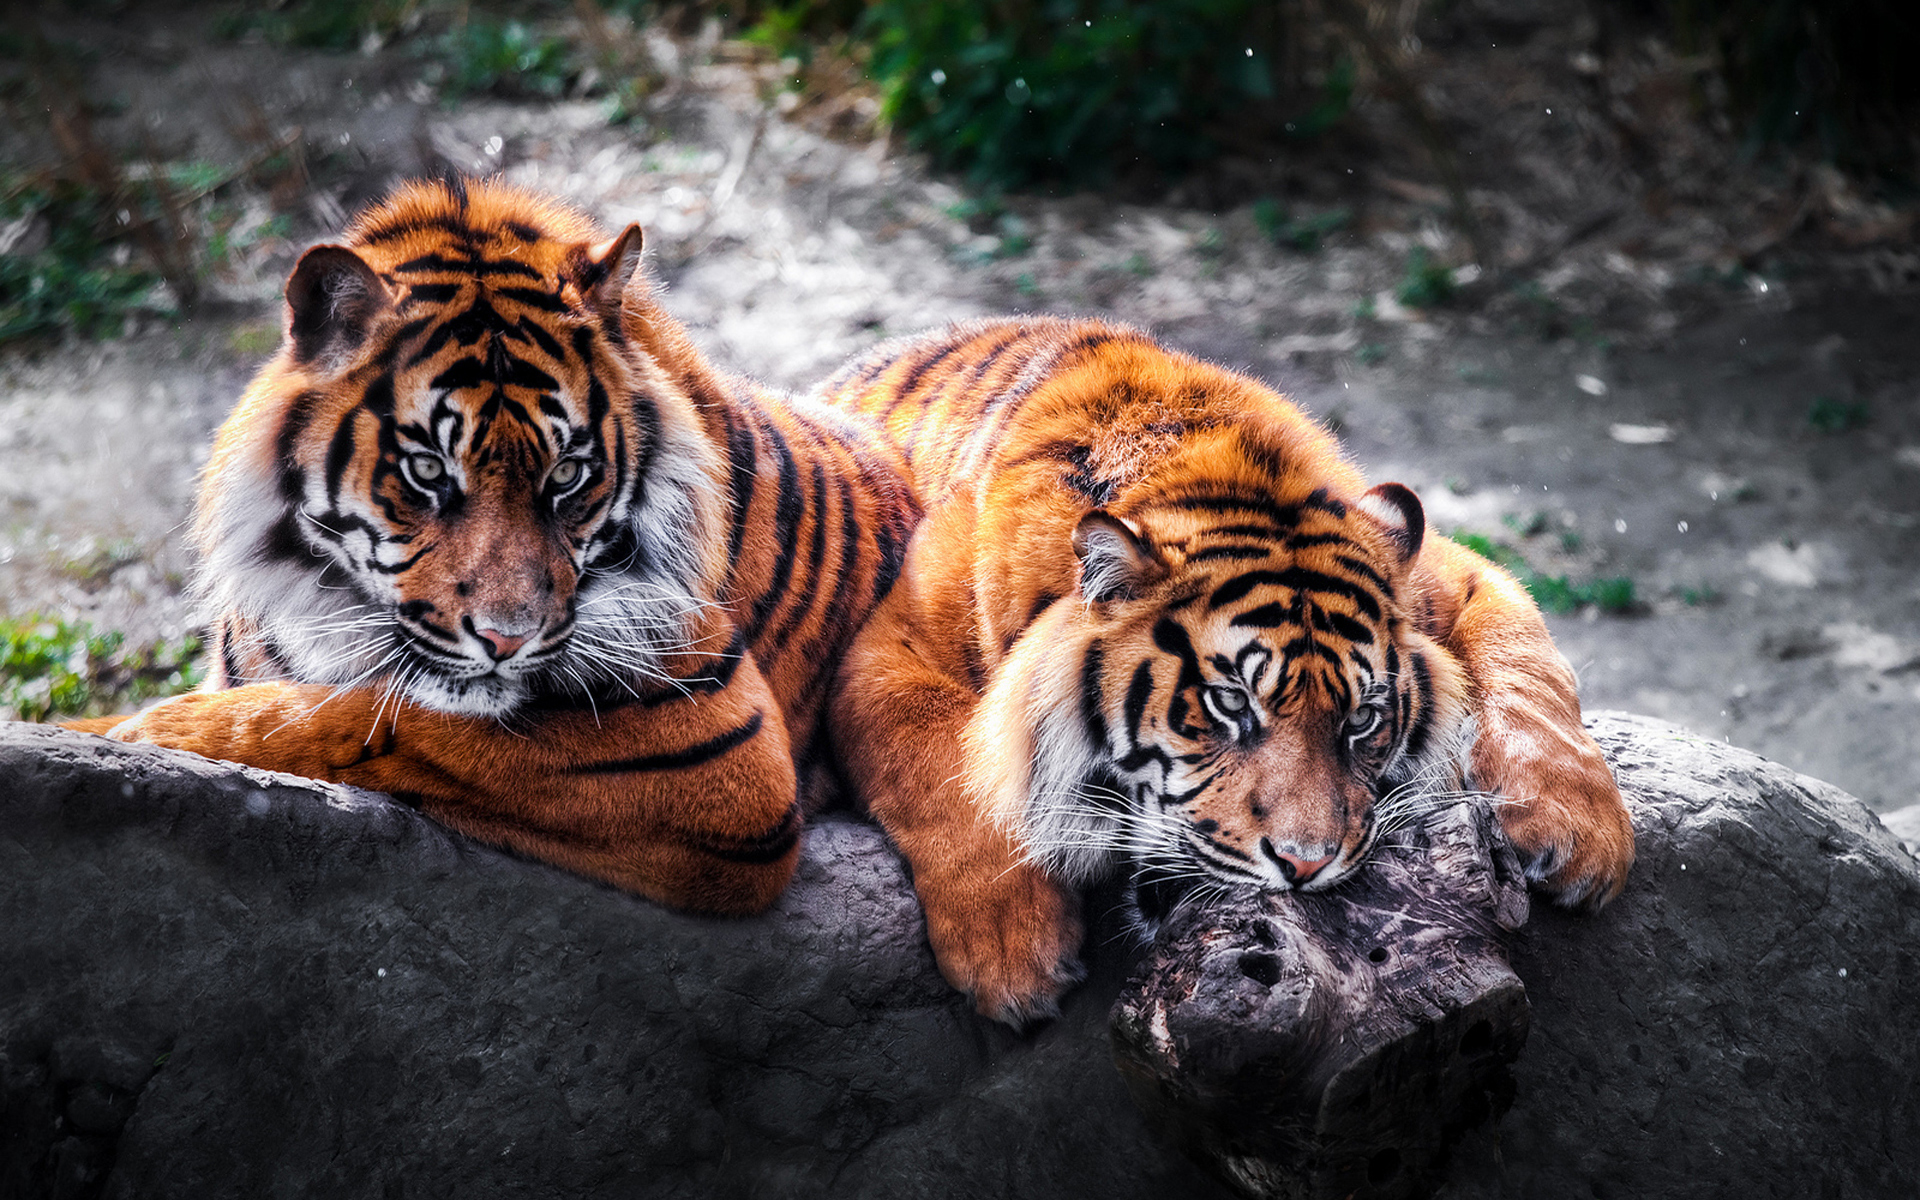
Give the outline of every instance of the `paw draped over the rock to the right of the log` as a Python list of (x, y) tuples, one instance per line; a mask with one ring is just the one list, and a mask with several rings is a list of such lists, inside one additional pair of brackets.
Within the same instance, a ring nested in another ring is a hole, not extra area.
[(1500, 824), (1521, 852), (1526, 877), (1563, 908), (1597, 912), (1626, 887), (1634, 866), (1634, 824), (1599, 747), (1563, 737), (1559, 755), (1523, 755), (1538, 739), (1494, 739), (1475, 747), (1475, 778), (1500, 793)]

